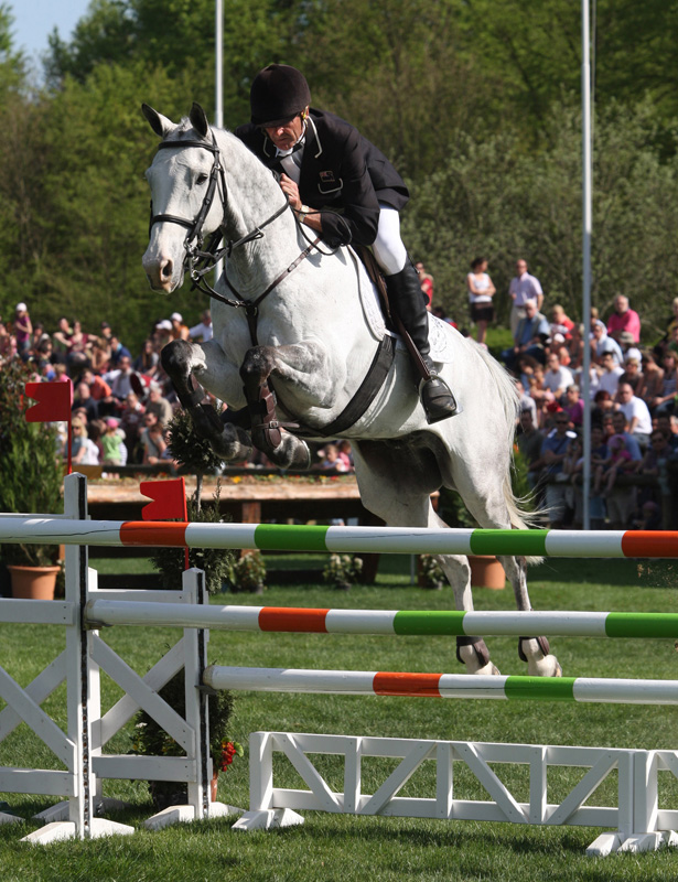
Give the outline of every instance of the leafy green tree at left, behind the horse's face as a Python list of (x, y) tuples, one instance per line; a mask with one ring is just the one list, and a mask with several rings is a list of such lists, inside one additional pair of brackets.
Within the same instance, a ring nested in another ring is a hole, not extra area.
[(0, 212), (14, 223), (0, 233), (7, 272), (0, 306), (25, 300), (34, 320), (52, 327), (62, 314), (92, 331), (108, 319), (133, 347), (173, 309), (197, 320), (203, 300), (186, 290), (170, 310), (141, 269), (149, 218), (143, 172), (157, 139), (140, 105), (157, 103), (179, 117), (192, 92), (187, 78), (170, 79), (140, 62), (100, 65), (85, 84), (68, 77), (56, 95), (8, 114), (0, 190), (9, 201)]

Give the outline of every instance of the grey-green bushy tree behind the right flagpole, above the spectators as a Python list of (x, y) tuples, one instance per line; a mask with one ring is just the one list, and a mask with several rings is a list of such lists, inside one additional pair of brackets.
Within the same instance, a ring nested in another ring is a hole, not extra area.
[[(617, 293), (641, 308), (645, 333), (658, 334), (675, 295), (678, 256), (678, 162), (660, 162), (653, 105), (633, 112), (612, 106), (596, 123), (592, 301), (606, 314)], [(464, 278), (478, 254), (488, 257), (499, 319), (518, 256), (541, 280), (548, 304), (561, 302), (581, 320), (581, 123), (556, 108), (548, 142), (526, 154), (518, 136), (477, 143), (471, 137), (445, 166), (413, 187), (403, 215), (406, 244), (426, 256), (437, 299), (466, 320)], [(657, 291), (661, 292), (657, 297)]]

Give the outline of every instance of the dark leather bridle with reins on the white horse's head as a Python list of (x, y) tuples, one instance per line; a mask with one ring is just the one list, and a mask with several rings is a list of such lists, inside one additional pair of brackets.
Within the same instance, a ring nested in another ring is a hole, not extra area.
[[(218, 144), (216, 142), (216, 138), (214, 137), (214, 132), (211, 131), (212, 135), (212, 142), (209, 141), (195, 141), (195, 140), (187, 140), (187, 141), (161, 141), (158, 144), (159, 150), (165, 150), (170, 148), (191, 148), (196, 147), (202, 150), (208, 150), (212, 155), (214, 157), (214, 161), (212, 163), (212, 170), (209, 172), (209, 183), (207, 184), (207, 191), (203, 198), (203, 204), (201, 205), (197, 215), (193, 220), (190, 220), (185, 217), (179, 217), (177, 215), (173, 214), (153, 214), (153, 203), (151, 202), (151, 216), (149, 222), (149, 236), (153, 224), (159, 223), (169, 223), (169, 224), (179, 224), (182, 227), (185, 227), (189, 232), (186, 233), (186, 238), (184, 239), (184, 270), (189, 271), (191, 277), (191, 281), (193, 282), (193, 287), (191, 290), (197, 289), (207, 297), (214, 298), (215, 300), (219, 300), (222, 303), (225, 303), (227, 306), (233, 306), (235, 309), (244, 309), (247, 315), (247, 324), (249, 326), (249, 333), (254, 345), (257, 345), (257, 315), (259, 312), (259, 304), (261, 301), (267, 298), (271, 291), (277, 288), (280, 282), (293, 272), (297, 267), (311, 254), (311, 251), (318, 246), (320, 241), (320, 237), (314, 239), (313, 241), (309, 241), (306, 248), (304, 248), (301, 254), (297, 257), (297, 259), (290, 263), (289, 267), (282, 270), (272, 282), (266, 288), (266, 290), (259, 294), (255, 300), (246, 300), (228, 281), (226, 273), (224, 272), (222, 278), (226, 282), (229, 291), (233, 293), (235, 299), (224, 297), (218, 291), (215, 291), (214, 288), (207, 282), (205, 276), (211, 272), (216, 263), (219, 260), (223, 260), (225, 257), (228, 258), (233, 254), (236, 248), (239, 248), (247, 243), (255, 241), (256, 239), (261, 239), (263, 237), (263, 228), (267, 227), (269, 224), (272, 224), (278, 217), (280, 217), (288, 208), (291, 211), (290, 202), (288, 197), (284, 197), (284, 205), (273, 212), (269, 217), (266, 218), (261, 224), (256, 226), (249, 233), (246, 233), (245, 236), (240, 237), (239, 239), (230, 239), (219, 248), (219, 243), (222, 241), (222, 230), (220, 228), (216, 229), (213, 234), (211, 234), (207, 241), (204, 241), (203, 236), (203, 226), (205, 224), (205, 219), (209, 209), (212, 207), (212, 203), (214, 202), (215, 193), (218, 192), (218, 195), (222, 200), (222, 208), (224, 213), (226, 211), (227, 205), (227, 187), (226, 187), (226, 176), (224, 174), (224, 166), (220, 162), (220, 151)], [(301, 228), (299, 220), (295, 217), (295, 222), (298, 226)], [(302, 230), (302, 235), (303, 230)]]

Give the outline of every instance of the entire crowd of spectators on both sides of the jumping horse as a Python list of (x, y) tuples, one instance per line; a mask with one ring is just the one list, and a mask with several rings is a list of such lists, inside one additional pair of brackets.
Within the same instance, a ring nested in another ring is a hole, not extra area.
[[(433, 277), (423, 263), (417, 268), (429, 310), (456, 326), (434, 303)], [(485, 346), (496, 294), (485, 258), (472, 261), (466, 288), (476, 342)], [(606, 321), (592, 309), (586, 324), (577, 323), (561, 304), (548, 304), (539, 279), (520, 258), (508, 297), (514, 342), (501, 357), (515, 376), (520, 398), (517, 445), (528, 483), (545, 504), (551, 526), (581, 526), (581, 433), (586, 408), (592, 418), (592, 525), (674, 526), (670, 472), (678, 464), (678, 298), (664, 335), (648, 347), (642, 343), (641, 318), (623, 294), (615, 298)], [(50, 333), (41, 322), (32, 322), (25, 303), (19, 303), (9, 321), (0, 318), (0, 366), (21, 358), (45, 383), (73, 380), (75, 464), (157, 464), (171, 459), (166, 426), (177, 407), (160, 353), (172, 340), (211, 337), (208, 311), (193, 327), (175, 312), (153, 324), (134, 356), (106, 321), (92, 333), (79, 321), (62, 318)], [(584, 401), (586, 347), (590, 399)], [(66, 443), (64, 432), (64, 456)], [(314, 467), (320, 470), (352, 470), (349, 442), (325, 444), (318, 460)], [(250, 464), (270, 463), (255, 454)], [(628, 475), (654, 481), (638, 488), (638, 482), (623, 480)]]

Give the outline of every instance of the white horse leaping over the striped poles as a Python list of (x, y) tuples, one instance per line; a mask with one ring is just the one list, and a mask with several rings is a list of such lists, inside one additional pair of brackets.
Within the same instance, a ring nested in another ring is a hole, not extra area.
[[(329, 428), (329, 437), (351, 439), (363, 504), (387, 525), (444, 528), (430, 501), (444, 486), (461, 494), (482, 527), (525, 528), (510, 485), (517, 396), (501, 365), (450, 325), (431, 322), (445, 361), (440, 374), (463, 412), (427, 424), (400, 347), (377, 369), (378, 389), (355, 409), (349, 402), (384, 354), (374, 292), (372, 301), (359, 294), (370, 287), (362, 263), (347, 248), (310, 247), (308, 227), (295, 222), (271, 172), (235, 136), (212, 129), (200, 106), (179, 125), (146, 105), (143, 112), (162, 139), (147, 172), (155, 213), (143, 256), (151, 287), (171, 293), (185, 267), (198, 280), (200, 258), (211, 263), (203, 237), (216, 233), (227, 241), (217, 255), (227, 259), (215, 291), (220, 300), (212, 302), (214, 338), (175, 341), (162, 353), (182, 405), (215, 450), (225, 460), (244, 459), (251, 429), (272, 461), (306, 466), (305, 442), (282, 427), (301, 424), (297, 434), (319, 440)], [(225, 417), (202, 404), (202, 387), (227, 402)], [(347, 406), (357, 419), (344, 428)], [(529, 610), (526, 559), (499, 560), (518, 609)], [(466, 558), (445, 555), (439, 562), (456, 607), (472, 610)], [(518, 649), (530, 674), (560, 674), (545, 638), (521, 637)], [(481, 637), (458, 638), (458, 657), (469, 673), (498, 673)]]

